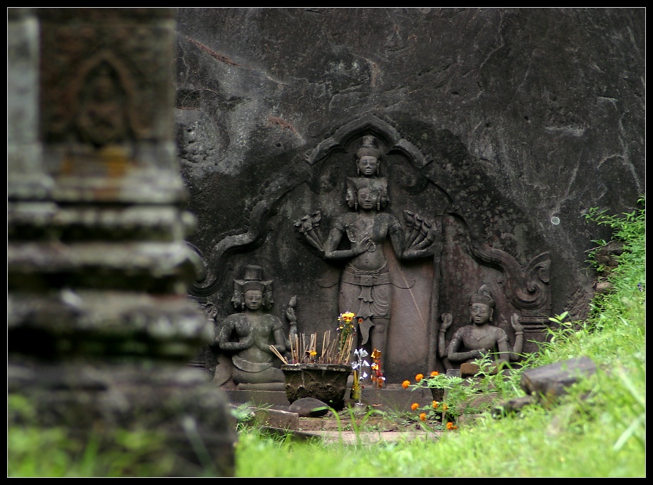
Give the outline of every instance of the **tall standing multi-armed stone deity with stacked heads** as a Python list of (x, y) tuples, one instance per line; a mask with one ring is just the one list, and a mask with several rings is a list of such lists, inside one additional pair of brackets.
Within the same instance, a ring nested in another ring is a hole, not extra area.
[(346, 180), (346, 202), (353, 212), (336, 217), (324, 243), (317, 232), (318, 212), (295, 227), (327, 261), (348, 260), (340, 280), (341, 313), (356, 314), (356, 348), (368, 346), (385, 355), (393, 283), (382, 246), (389, 240), (399, 261), (433, 256), (437, 232), (435, 224), (409, 211), (404, 211), (404, 232), (397, 217), (383, 212), (389, 199), (386, 179), (377, 177), (380, 156), (375, 138), (363, 137), (356, 151), (359, 176)]

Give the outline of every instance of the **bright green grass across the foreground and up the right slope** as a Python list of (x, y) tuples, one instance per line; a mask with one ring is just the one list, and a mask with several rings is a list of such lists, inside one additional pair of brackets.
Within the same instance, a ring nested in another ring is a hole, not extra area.
[[(641, 202), (641, 210), (620, 217), (590, 213), (590, 222), (608, 224), (625, 242), (620, 265), (608, 276), (613, 290), (594, 299), (587, 321), (569, 322), (564, 313), (552, 316), (560, 328), (528, 360), (528, 366), (538, 367), (586, 356), (598, 365), (597, 374), (574, 385), (557, 406), (526, 406), (515, 415), (445, 432), (439, 440), (384, 444), (365, 443), (363, 434), (356, 445), (299, 443), (239, 426), (236, 476), (645, 477), (646, 219)], [(518, 392), (518, 385), (513, 382), (509, 389)], [(28, 409), (25, 403), (8, 404)], [(166, 475), (165, 455), (147, 435), (116, 438), (112, 451), (99, 453), (98, 443), (79, 443), (64, 430), (9, 428), (7, 476)]]

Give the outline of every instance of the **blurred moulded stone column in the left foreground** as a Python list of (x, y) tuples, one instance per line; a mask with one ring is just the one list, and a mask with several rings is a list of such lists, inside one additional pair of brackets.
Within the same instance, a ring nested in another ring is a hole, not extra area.
[(10, 402), (80, 438), (151, 432), (169, 475), (232, 476), (225, 394), (187, 365), (212, 324), (186, 294), (174, 10), (8, 8), (7, 27)]

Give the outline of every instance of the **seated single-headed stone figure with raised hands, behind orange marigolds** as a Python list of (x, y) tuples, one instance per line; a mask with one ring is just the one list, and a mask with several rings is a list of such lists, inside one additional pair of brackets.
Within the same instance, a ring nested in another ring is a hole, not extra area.
[[(471, 325), (462, 326), (455, 331), (449, 346), (445, 346), (445, 331), (451, 326), (451, 314), (442, 315), (439, 348), (441, 357), (447, 357), (452, 363), (471, 363), (487, 353), (496, 353), (496, 363), (508, 363), (517, 360), (523, 347), (523, 327), (519, 316), (513, 314), (511, 325), (516, 333), (515, 346), (510, 349), (508, 335), (504, 329), (492, 324), (495, 302), (487, 285), (482, 285), (478, 292), (470, 297)], [(445, 350), (446, 349), (446, 350)]]

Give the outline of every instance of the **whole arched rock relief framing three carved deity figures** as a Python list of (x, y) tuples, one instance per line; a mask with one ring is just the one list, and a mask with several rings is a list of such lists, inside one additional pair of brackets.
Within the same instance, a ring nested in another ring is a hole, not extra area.
[[(452, 183), (438, 159), (427, 158), (374, 117), (336, 130), (307, 164), (285, 186), (259, 190), (243, 230), (215, 239), (207, 258), (198, 251), (205, 272), (191, 295), (224, 307), (230, 290), (222, 281), (229, 268), (240, 271), (254, 253), (272, 271), (269, 279), (283, 282), (277, 291), (284, 299), (297, 295), (276, 312), (279, 319), (255, 309), (236, 281), (242, 297), (234, 304), (242, 312), (217, 326), (216, 383), (280, 385), (283, 376), (272, 369), (280, 360), (269, 345), (287, 355), (290, 333), (335, 331), (336, 317), (345, 312), (356, 314), (353, 348), (380, 350), (390, 383), (426, 370), (449, 370), (489, 351), (516, 360), (537, 350), (531, 342), (543, 340), (550, 316), (549, 254), (533, 251), (526, 239), (517, 254), (479, 236), (475, 212), (457, 202), (452, 188), (464, 186), (465, 179)], [(489, 201), (499, 197), (496, 188), (484, 190)], [(510, 217), (513, 225), (527, 224)], [(303, 244), (295, 245), (293, 236)], [(468, 298), (474, 293), (483, 299), (477, 293), (481, 285), (492, 293), (492, 304), (474, 302), (477, 316), (468, 325)], [(269, 291), (261, 292), (265, 300)], [(266, 305), (270, 309), (271, 301)], [(273, 323), (266, 327), (267, 346), (254, 350), (249, 329), (259, 320)], [(255, 367), (266, 369), (254, 372)]]

